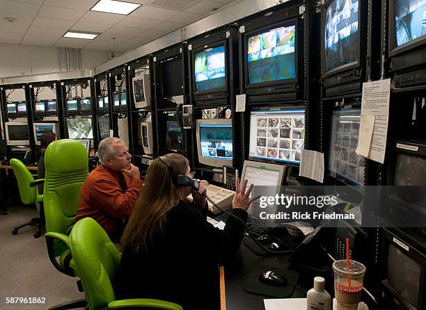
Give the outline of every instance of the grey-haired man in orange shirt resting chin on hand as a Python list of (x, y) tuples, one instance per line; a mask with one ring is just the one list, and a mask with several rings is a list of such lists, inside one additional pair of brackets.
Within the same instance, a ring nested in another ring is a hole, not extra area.
[(100, 165), (88, 175), (83, 186), (76, 222), (93, 218), (112, 240), (120, 238), (124, 220), (132, 213), (142, 188), (139, 168), (132, 165), (132, 155), (120, 138), (106, 138), (97, 148)]

